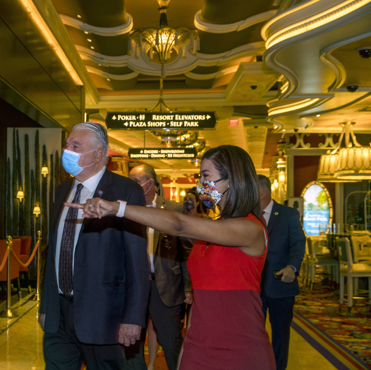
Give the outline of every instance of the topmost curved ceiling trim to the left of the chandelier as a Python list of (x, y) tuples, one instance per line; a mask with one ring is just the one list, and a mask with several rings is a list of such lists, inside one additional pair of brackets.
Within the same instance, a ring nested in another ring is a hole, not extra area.
[(130, 32), (133, 28), (133, 18), (129, 13), (126, 13), (126, 23), (116, 27), (96, 27), (91, 26), (88, 23), (83, 23), (78, 19), (66, 16), (64, 14), (59, 14), (59, 16), (65, 26), (70, 26), (83, 32), (88, 32), (99, 36), (119, 36)]

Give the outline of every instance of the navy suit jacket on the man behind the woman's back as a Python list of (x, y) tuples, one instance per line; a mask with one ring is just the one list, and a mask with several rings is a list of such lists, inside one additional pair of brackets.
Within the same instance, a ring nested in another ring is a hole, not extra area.
[(282, 283), (273, 276), (273, 270), (287, 265), (295, 266), (299, 275), (305, 252), (305, 234), (299, 212), (273, 201), (272, 212), (267, 226), (268, 253), (262, 273), (262, 291), (269, 298), (293, 297), (299, 294), (298, 278)]

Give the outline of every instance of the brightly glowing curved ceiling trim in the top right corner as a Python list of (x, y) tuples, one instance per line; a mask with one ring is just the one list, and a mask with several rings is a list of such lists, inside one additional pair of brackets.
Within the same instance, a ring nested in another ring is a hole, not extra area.
[[(269, 49), (270, 47), (274, 46), (275, 44), (279, 42), (291, 39), (292, 37), (298, 36), (299, 34), (303, 34), (308, 31), (314, 30), (318, 27), (323, 26), (326, 23), (329, 23), (341, 17), (344, 17), (352, 13), (353, 11), (358, 10), (362, 6), (367, 5), (370, 2), (371, 0), (344, 1), (341, 4), (337, 4), (336, 6), (328, 8), (322, 11), (321, 13), (318, 13), (312, 17), (309, 17), (308, 19), (293, 23), (290, 26), (284, 27), (283, 29), (280, 29), (279, 31), (273, 33), (271, 36), (267, 38), (265, 47), (266, 49)], [(309, 2), (309, 3), (306, 3), (305, 5), (310, 6), (311, 4), (312, 2)], [(285, 15), (287, 14), (289, 13), (285, 12)], [(271, 20), (269, 22), (269, 25), (274, 23), (276, 20), (277, 18), (274, 18), (273, 20)], [(267, 27), (269, 25), (266, 24), (263, 27), (264, 32), (266, 32)], [(263, 29), (262, 29), (262, 32), (263, 32)]]

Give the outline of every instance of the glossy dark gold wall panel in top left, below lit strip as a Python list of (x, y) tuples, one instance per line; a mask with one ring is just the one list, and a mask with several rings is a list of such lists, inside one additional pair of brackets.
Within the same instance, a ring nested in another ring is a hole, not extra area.
[(82, 122), (82, 87), (75, 85), (20, 1), (1, 1), (0, 40), (0, 98), (44, 127), (69, 131)]

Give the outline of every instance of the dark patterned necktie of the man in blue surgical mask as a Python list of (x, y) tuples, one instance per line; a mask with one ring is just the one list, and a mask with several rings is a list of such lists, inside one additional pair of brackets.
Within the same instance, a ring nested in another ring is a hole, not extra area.
[[(77, 185), (75, 197), (71, 203), (80, 202), (80, 193), (83, 187), (84, 185), (82, 184)], [(77, 208), (68, 208), (65, 224), (63, 226), (62, 240), (60, 242), (58, 283), (60, 290), (66, 295), (66, 297), (68, 297), (73, 290), (72, 260), (73, 246), (75, 244), (77, 212)]]

